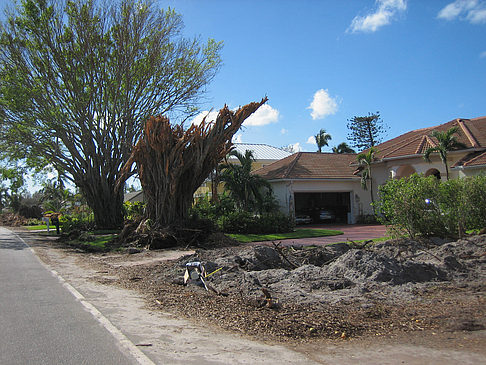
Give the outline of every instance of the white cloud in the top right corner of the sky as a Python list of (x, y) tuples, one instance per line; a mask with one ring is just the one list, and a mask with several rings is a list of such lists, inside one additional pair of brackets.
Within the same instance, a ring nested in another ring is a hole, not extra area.
[(460, 18), (472, 24), (486, 23), (486, 2), (479, 0), (456, 0), (442, 8), (437, 18), (454, 20)]

